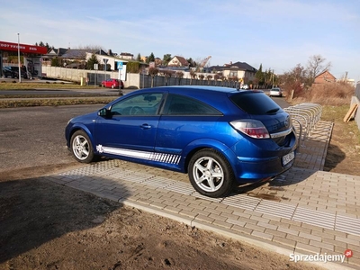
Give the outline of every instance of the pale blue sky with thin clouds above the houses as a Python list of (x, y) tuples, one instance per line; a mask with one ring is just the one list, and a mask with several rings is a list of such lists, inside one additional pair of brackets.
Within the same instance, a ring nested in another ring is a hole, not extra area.
[(101, 46), (223, 65), (247, 62), (281, 74), (313, 55), (360, 81), (359, 0), (5, 1), (0, 40), (55, 48)]

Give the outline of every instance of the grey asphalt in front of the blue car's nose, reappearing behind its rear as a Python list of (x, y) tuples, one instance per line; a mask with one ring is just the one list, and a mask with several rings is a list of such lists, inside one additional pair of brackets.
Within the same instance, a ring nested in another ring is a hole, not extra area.
[[(274, 98), (281, 107), (284, 98)], [(9, 169), (76, 164), (66, 148), (64, 129), (72, 117), (103, 104), (0, 109), (0, 174)]]

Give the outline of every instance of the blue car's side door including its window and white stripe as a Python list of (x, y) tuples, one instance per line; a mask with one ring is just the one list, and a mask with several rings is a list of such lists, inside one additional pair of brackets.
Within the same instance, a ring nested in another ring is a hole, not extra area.
[(95, 124), (96, 149), (104, 154), (148, 159), (153, 153), (163, 94), (131, 95), (112, 104)]

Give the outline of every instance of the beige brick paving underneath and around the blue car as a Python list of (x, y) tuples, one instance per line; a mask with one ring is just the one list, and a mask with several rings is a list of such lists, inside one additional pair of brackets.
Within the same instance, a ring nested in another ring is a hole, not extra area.
[(360, 269), (360, 176), (322, 171), (332, 123), (319, 121), (302, 141), (295, 165), (262, 184), (239, 186), (225, 198), (196, 193), (187, 175), (108, 160), (50, 181), (282, 253), (343, 255), (329, 269)]

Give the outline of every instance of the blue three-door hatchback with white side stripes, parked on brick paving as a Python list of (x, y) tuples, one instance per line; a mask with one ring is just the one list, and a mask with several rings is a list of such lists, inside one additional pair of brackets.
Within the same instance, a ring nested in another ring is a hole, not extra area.
[(79, 162), (103, 156), (187, 173), (210, 197), (284, 173), (298, 145), (291, 116), (262, 91), (191, 85), (123, 95), (68, 121), (65, 136)]

